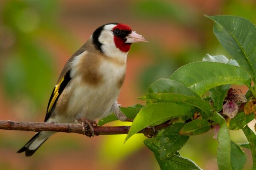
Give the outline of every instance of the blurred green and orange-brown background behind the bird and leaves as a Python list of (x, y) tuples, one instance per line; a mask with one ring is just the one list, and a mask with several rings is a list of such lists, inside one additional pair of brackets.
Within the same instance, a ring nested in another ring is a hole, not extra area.
[[(0, 119), (43, 122), (49, 96), (69, 57), (105, 23), (125, 23), (149, 43), (128, 54), (127, 76), (119, 96), (137, 103), (148, 85), (178, 67), (224, 54), (203, 16), (239, 15), (256, 23), (255, 0), (0, 0)], [(128, 125), (113, 122), (108, 125)], [(88, 138), (57, 133), (32, 156), (17, 154), (33, 132), (0, 130), (0, 169), (158, 170), (143, 135), (123, 144), (124, 135)], [(218, 142), (208, 132), (190, 137), (180, 150), (204, 170), (216, 170)], [(235, 142), (246, 142), (240, 131)], [(244, 169), (250, 169), (250, 151)]]

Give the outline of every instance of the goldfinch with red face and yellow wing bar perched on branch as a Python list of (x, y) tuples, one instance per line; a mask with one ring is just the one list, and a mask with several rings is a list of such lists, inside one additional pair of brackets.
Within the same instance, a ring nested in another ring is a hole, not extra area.
[[(85, 122), (93, 136), (95, 119), (114, 113), (120, 121), (125, 121), (117, 98), (125, 79), (128, 51), (136, 42), (148, 40), (126, 24), (108, 23), (97, 28), (61, 71), (44, 122)], [(54, 133), (36, 133), (17, 153), (32, 156)]]

